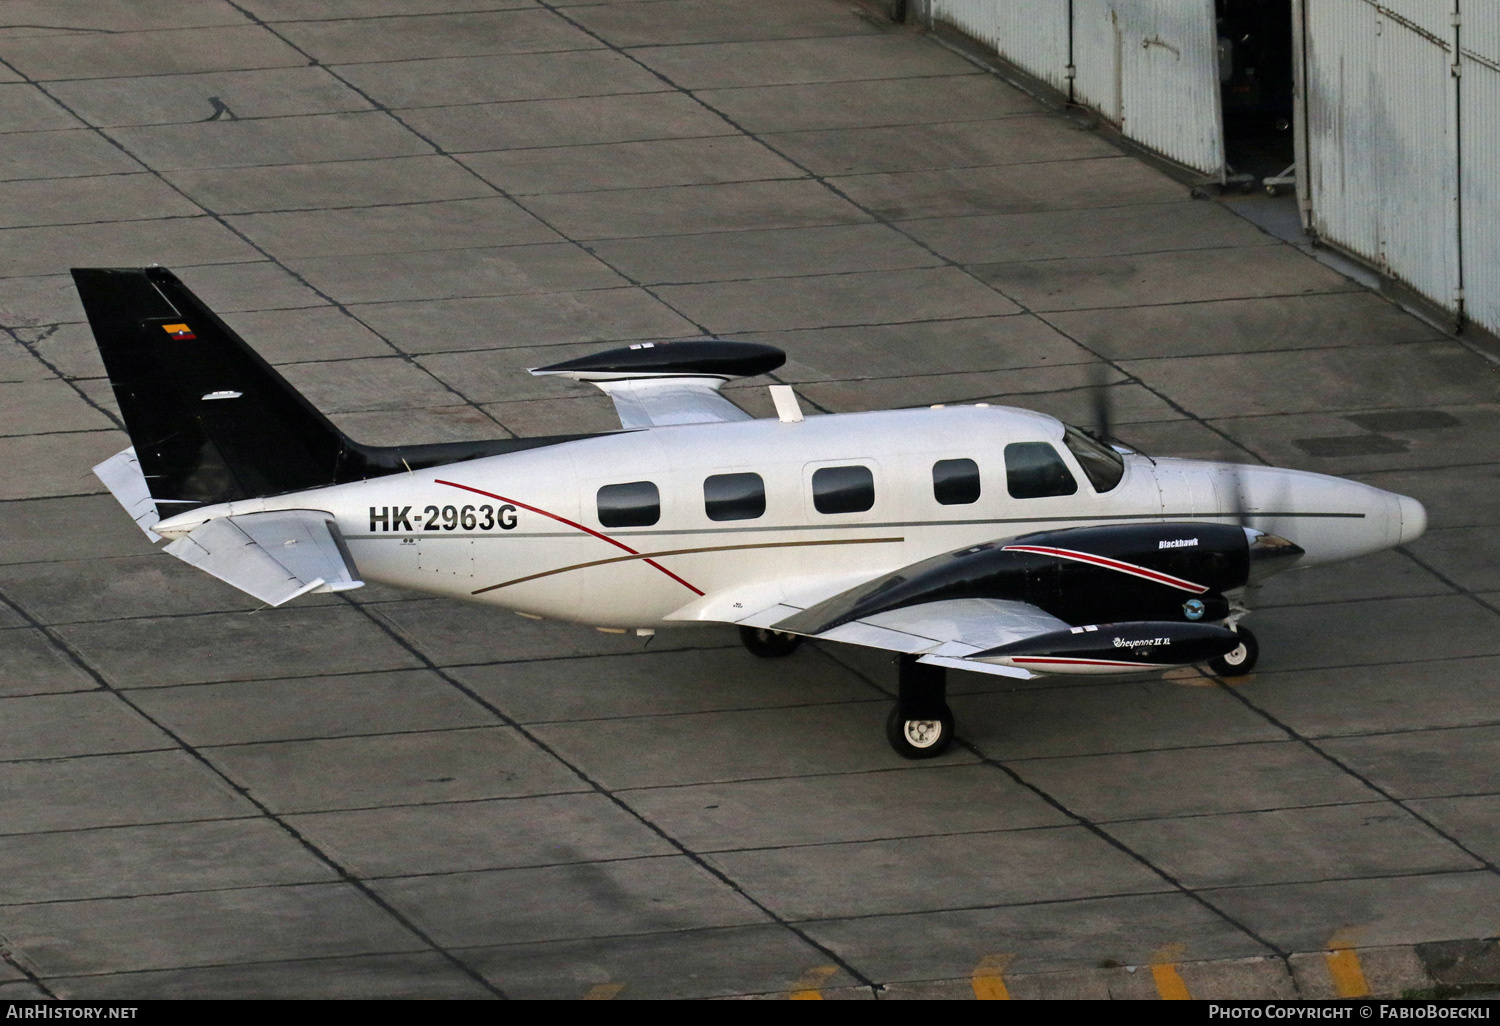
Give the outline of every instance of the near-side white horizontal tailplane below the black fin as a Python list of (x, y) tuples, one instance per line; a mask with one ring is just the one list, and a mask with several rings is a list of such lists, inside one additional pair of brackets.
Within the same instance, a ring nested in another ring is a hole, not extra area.
[(322, 510), (220, 516), (177, 538), (166, 552), (268, 606), (310, 591), (364, 585), (338, 525)]

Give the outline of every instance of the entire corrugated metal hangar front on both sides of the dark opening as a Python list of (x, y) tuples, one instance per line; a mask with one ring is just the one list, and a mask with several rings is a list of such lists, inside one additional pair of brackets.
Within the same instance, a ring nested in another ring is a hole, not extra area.
[[(926, 8), (1125, 138), (1224, 182), (1233, 170), (1222, 104), (1234, 74), (1234, 33), (1224, 34), (1233, 2)], [(1500, 0), (1288, 8), (1304, 224), (1455, 318), (1500, 333)]]

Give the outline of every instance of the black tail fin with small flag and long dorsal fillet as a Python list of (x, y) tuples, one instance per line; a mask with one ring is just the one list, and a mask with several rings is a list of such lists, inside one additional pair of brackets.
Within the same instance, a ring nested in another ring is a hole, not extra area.
[(584, 436), (362, 446), (165, 267), (75, 267), (74, 282), (164, 516)]

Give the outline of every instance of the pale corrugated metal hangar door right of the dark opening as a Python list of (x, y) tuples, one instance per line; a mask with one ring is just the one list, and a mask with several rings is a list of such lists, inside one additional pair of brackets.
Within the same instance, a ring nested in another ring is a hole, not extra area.
[(1310, 226), (1500, 332), (1500, 0), (1302, 0)]

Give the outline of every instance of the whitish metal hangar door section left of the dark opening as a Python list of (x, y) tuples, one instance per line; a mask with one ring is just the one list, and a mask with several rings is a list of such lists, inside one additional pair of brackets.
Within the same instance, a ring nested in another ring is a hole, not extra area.
[(930, 10), (1126, 138), (1222, 180), (1214, 0), (932, 0)]

